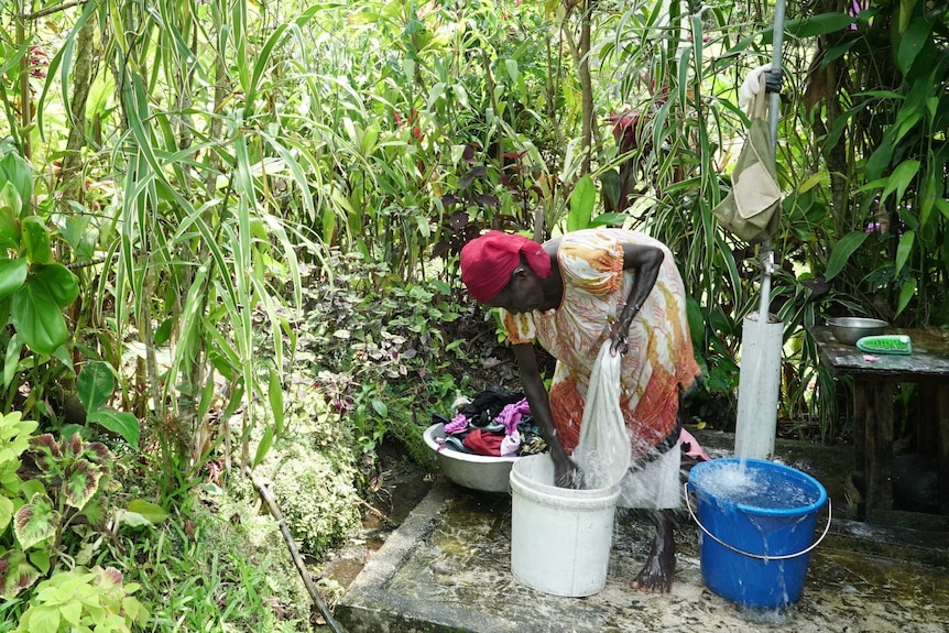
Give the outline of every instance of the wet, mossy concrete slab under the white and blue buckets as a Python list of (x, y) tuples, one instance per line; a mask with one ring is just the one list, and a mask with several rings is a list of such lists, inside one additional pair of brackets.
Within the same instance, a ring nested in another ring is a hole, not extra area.
[[(712, 457), (731, 456), (732, 436), (696, 435)], [(949, 630), (946, 517), (895, 514), (902, 525), (854, 521), (848, 447), (779, 440), (776, 452), (777, 461), (821, 481), (833, 503), (831, 530), (811, 554), (804, 596), (783, 611), (743, 610), (711, 592), (701, 578), (697, 530), (685, 513), (670, 593), (629, 588), (653, 536), (648, 519), (629, 511), (618, 512), (601, 592), (542, 593), (511, 572), (511, 496), (437, 477), (381, 549), (367, 554), (336, 618), (348, 633)], [(826, 512), (818, 525), (823, 521)]]

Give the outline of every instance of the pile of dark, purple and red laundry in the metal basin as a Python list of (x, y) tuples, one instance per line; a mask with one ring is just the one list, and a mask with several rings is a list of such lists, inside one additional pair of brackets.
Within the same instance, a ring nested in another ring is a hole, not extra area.
[(445, 425), (443, 448), (490, 457), (520, 457), (545, 452), (547, 445), (534, 423), (523, 393), (501, 388), (479, 391), (472, 399), (456, 400), (455, 417), (433, 414), (432, 422)]

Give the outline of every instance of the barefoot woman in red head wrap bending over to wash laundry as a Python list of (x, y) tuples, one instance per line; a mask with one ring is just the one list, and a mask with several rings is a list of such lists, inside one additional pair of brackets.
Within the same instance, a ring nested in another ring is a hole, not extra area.
[[(476, 301), (500, 308), (557, 485), (578, 487), (569, 456), (607, 337), (611, 351), (623, 354), (620, 407), (633, 462), (620, 505), (656, 511), (652, 552), (631, 587), (668, 592), (675, 575), (673, 510), (681, 502), (680, 393), (700, 373), (672, 252), (643, 233), (619, 229), (575, 231), (544, 244), (489, 231), (461, 250), (461, 279)], [(549, 396), (534, 339), (557, 359)]]

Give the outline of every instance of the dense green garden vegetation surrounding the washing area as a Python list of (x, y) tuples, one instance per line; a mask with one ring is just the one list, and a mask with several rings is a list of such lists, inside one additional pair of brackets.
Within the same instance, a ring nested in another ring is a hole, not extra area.
[[(807, 326), (949, 326), (949, 2), (871, 4), (787, 9), (771, 307), (782, 428), (822, 441)], [(243, 474), (318, 566), (383, 441), (424, 462), (434, 412), (514, 384), (458, 275), (484, 228), (668, 243), (694, 414), (733, 424), (759, 262), (711, 209), (762, 11), (0, 2), (0, 631), (312, 630)]]

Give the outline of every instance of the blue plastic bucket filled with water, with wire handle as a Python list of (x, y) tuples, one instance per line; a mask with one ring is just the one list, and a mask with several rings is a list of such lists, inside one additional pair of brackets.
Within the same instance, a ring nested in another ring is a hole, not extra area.
[[(827, 490), (794, 468), (738, 458), (696, 465), (694, 490), (699, 526), (699, 560), (706, 586), (742, 607), (779, 609), (800, 599), (817, 512)], [(686, 500), (688, 501), (688, 493)], [(691, 511), (691, 504), (689, 504)]]

